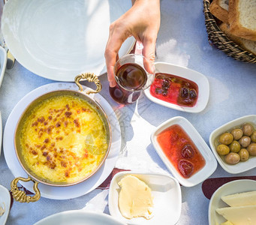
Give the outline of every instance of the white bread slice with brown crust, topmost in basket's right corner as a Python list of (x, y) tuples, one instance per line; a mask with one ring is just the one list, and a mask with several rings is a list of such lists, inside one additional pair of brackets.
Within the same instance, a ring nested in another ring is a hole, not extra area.
[(256, 0), (230, 0), (228, 21), (231, 34), (256, 40)]

